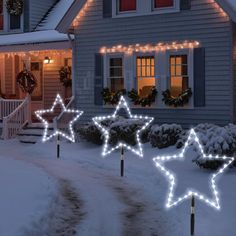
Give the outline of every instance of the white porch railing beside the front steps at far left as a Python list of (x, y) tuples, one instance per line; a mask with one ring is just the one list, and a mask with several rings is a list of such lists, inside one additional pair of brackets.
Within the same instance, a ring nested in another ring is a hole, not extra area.
[(3, 119), (2, 138), (14, 138), (19, 131), (31, 121), (31, 100), (1, 100), (1, 117)]

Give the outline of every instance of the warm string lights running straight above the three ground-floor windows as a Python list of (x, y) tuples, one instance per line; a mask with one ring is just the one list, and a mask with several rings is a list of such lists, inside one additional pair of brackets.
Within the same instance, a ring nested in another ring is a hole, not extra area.
[(111, 48), (108, 47), (102, 47), (100, 49), (100, 53), (106, 54), (106, 53), (126, 53), (126, 54), (132, 54), (134, 52), (155, 52), (155, 51), (165, 51), (165, 50), (179, 50), (179, 49), (185, 49), (185, 48), (196, 48), (200, 45), (198, 41), (184, 41), (182, 43), (179, 42), (172, 42), (172, 43), (158, 43), (156, 45), (146, 44), (146, 45), (129, 45), (129, 46), (123, 46), (123, 45), (117, 45), (113, 46)]

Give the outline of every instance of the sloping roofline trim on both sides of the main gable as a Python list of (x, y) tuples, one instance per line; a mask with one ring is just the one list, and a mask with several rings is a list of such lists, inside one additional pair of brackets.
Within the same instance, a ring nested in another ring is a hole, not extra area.
[[(232, 8), (232, 6), (227, 3), (225, 0), (215, 0), (222, 9), (229, 15), (233, 22), (236, 22), (236, 11)], [(56, 30), (60, 33), (67, 33), (68, 29), (71, 26), (71, 23), (80, 12), (84, 4), (87, 0), (75, 0), (74, 3), (71, 5), (67, 13), (63, 16), (61, 21), (56, 27)]]

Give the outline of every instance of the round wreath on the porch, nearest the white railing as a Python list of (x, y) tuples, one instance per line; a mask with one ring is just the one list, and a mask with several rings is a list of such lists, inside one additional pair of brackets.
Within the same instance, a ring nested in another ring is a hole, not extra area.
[(37, 86), (36, 78), (27, 69), (24, 69), (17, 75), (16, 82), (24, 93), (29, 94), (32, 94)]

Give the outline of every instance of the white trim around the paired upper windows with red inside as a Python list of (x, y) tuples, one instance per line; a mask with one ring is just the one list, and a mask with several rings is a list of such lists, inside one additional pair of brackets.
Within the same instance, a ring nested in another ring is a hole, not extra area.
[(127, 11), (119, 12), (119, 0), (112, 0), (112, 17), (113, 18), (122, 18), (122, 17), (134, 17), (134, 16), (143, 16), (143, 15), (157, 15), (157, 14), (166, 14), (174, 13), (180, 11), (180, 0), (174, 0), (173, 7), (167, 8), (154, 8), (153, 0), (136, 0), (136, 11)]

